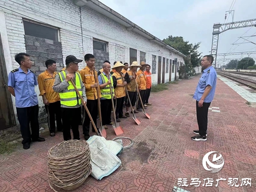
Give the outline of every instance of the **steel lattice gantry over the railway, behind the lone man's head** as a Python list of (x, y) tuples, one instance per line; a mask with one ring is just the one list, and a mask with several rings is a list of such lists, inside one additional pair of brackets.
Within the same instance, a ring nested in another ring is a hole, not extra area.
[(231, 22), (231, 23), (225, 23), (225, 24), (215, 23), (213, 25), (211, 55), (215, 60), (214, 68), (216, 68), (219, 34), (230, 29), (238, 29), (238, 28), (252, 27), (252, 26), (256, 27), (256, 19), (237, 21), (237, 22)]

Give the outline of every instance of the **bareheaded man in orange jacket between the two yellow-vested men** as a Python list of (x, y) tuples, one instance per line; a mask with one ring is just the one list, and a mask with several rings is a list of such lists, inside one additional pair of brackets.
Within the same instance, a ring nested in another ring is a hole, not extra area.
[[(94, 70), (93, 66), (95, 63), (94, 55), (92, 54), (86, 54), (84, 56), (84, 60), (87, 64), (85, 68), (83, 68), (79, 73), (82, 77), (82, 81), (85, 85), (85, 91), (86, 91), (86, 97), (87, 97), (87, 108), (92, 116), (93, 122), (95, 126), (97, 127), (97, 116), (98, 116), (98, 95), (97, 90), (99, 89), (99, 84), (96, 83), (96, 80), (94, 78)], [(95, 75), (97, 76), (96, 72)], [(86, 110), (83, 107), (83, 134), (84, 139), (88, 140), (90, 138), (89, 132), (90, 132), (90, 118), (86, 112)], [(92, 128), (92, 132), (95, 132), (94, 128)]]

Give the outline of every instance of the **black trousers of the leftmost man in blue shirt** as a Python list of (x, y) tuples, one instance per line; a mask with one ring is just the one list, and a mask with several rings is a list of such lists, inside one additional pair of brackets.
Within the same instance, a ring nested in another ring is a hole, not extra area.
[[(38, 123), (38, 104), (32, 107), (18, 108), (17, 116), (20, 123), (20, 132), (22, 135), (22, 144), (30, 143), (31, 139), (35, 140), (39, 137), (39, 123)], [(31, 134), (30, 127), (31, 126)]]

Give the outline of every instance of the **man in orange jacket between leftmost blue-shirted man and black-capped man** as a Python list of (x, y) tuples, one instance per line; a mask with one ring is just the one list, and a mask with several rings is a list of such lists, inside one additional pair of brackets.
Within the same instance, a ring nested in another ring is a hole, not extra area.
[(53, 137), (55, 136), (55, 115), (57, 131), (62, 131), (60, 96), (52, 89), (57, 74), (55, 72), (56, 61), (49, 59), (45, 62), (45, 65), (47, 69), (38, 76), (38, 87), (40, 90), (39, 96), (43, 98), (47, 113), (50, 136)]

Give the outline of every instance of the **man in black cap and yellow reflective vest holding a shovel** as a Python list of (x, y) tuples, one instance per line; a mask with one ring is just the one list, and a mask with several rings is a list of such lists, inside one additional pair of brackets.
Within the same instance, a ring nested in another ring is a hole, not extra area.
[(71, 80), (74, 81), (76, 88), (82, 95), (84, 104), (86, 104), (85, 86), (80, 74), (77, 72), (78, 63), (82, 61), (73, 55), (67, 56), (66, 70), (59, 72), (55, 76), (55, 82), (52, 86), (53, 90), (60, 95), (63, 138), (65, 141), (71, 139), (70, 127), (72, 128), (74, 139), (80, 140), (78, 126), (81, 117), (80, 106), (82, 105), (82, 100), (76, 93)]

